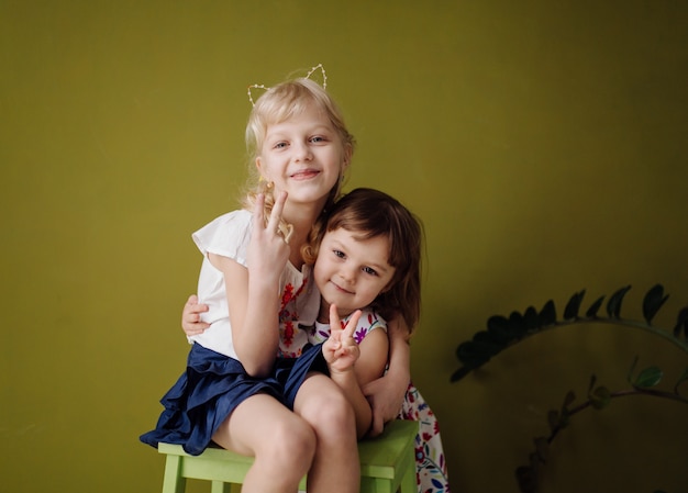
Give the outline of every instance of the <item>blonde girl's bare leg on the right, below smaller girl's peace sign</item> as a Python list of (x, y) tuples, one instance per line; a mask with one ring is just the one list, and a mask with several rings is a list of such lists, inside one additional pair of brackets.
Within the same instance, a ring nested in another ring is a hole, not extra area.
[(310, 376), (297, 393), (295, 412), (313, 427), (318, 438), (308, 492), (358, 492), (356, 418), (337, 384), (321, 373)]

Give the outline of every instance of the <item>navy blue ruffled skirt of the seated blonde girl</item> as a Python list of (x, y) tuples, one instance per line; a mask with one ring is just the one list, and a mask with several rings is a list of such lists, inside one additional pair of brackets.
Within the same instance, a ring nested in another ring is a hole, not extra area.
[(187, 371), (160, 400), (165, 410), (157, 426), (141, 441), (156, 448), (160, 441), (177, 444), (198, 456), (222, 422), (252, 395), (273, 395), (293, 410), (297, 392), (311, 371), (329, 374), (321, 345), (304, 349), (299, 358), (277, 358), (270, 377), (259, 379), (248, 376), (240, 361), (195, 344)]

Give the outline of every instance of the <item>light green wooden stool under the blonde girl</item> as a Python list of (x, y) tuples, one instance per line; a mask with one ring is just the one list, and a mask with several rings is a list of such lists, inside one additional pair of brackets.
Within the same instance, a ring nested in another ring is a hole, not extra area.
[[(379, 437), (358, 444), (362, 493), (418, 493), (417, 434), (417, 422), (395, 419)], [(212, 493), (229, 493), (232, 485), (243, 483), (253, 463), (253, 458), (222, 448), (208, 448), (200, 456), (189, 456), (180, 445), (159, 444), (158, 451), (167, 456), (163, 493), (184, 493), (187, 478), (212, 481)], [(306, 490), (306, 478), (299, 488)]]

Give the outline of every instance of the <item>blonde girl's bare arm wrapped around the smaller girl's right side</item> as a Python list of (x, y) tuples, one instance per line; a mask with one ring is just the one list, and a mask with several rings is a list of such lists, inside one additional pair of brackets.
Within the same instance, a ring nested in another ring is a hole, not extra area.
[(387, 333), (389, 336), (389, 368), (387, 373), (364, 388), (364, 393), (370, 407), (373, 407), (370, 436), (382, 433), (385, 423), (397, 417), (411, 381), (409, 329), (403, 318), (397, 316), (390, 321)]

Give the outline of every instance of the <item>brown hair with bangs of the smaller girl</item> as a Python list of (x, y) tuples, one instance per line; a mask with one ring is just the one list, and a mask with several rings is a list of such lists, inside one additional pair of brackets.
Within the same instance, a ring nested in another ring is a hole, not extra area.
[(329, 211), (325, 221), (313, 228), (302, 250), (308, 264), (315, 262), (325, 233), (340, 227), (359, 233), (364, 239), (389, 238), (388, 262), (395, 267), (395, 276), (370, 309), (387, 320), (401, 315), (412, 332), (421, 312), (423, 227), (420, 220), (387, 193), (357, 188), (343, 195)]

